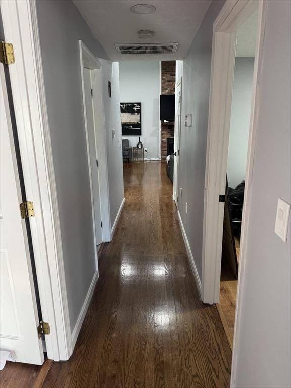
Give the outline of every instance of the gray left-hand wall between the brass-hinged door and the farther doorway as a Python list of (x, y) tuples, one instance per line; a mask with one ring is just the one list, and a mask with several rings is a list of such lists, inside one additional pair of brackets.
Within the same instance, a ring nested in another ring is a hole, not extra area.
[(73, 330), (95, 272), (78, 40), (107, 56), (71, 1), (37, 1), (37, 14)]

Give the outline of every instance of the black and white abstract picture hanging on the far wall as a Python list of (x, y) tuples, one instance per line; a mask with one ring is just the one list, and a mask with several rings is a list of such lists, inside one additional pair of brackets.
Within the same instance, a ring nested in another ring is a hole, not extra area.
[(120, 103), (123, 136), (141, 136), (141, 103)]

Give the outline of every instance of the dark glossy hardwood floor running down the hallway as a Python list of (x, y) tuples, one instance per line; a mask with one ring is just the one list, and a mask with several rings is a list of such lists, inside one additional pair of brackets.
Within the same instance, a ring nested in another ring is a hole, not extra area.
[(43, 387), (228, 387), (231, 350), (216, 307), (200, 301), (165, 163), (126, 163), (124, 182), (74, 353)]

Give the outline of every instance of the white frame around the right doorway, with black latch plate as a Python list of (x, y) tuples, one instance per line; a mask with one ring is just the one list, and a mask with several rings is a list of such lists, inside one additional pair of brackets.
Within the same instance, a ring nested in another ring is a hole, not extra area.
[(213, 24), (202, 252), (201, 297), (204, 303), (213, 304), (219, 301), (224, 213), (224, 203), (219, 202), (219, 195), (225, 193), (236, 34), (241, 24), (258, 9), (257, 47), (254, 64), (245, 200), (240, 240), (240, 269), (238, 275), (239, 307), (239, 287), (240, 279), (244, 276), (245, 236), (246, 230), (248, 229), (250, 212), (266, 7), (266, 0), (227, 0)]

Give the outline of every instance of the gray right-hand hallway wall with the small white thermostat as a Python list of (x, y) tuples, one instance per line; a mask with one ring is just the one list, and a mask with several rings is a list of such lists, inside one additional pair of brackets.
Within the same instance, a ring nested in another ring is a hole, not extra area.
[[(212, 2), (188, 55), (183, 61), (182, 121), (178, 210), (193, 258), (202, 274), (202, 233), (205, 184), (206, 141), (211, 71), (212, 24), (224, 0)], [(192, 113), (192, 127), (184, 126), (185, 113)], [(188, 203), (188, 213), (185, 212)]]

